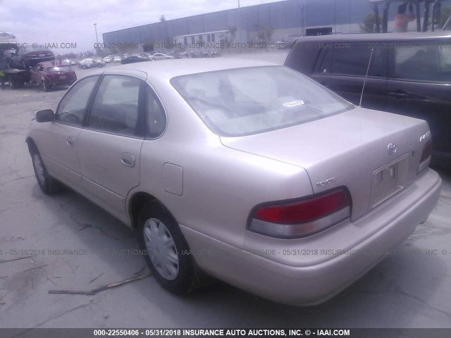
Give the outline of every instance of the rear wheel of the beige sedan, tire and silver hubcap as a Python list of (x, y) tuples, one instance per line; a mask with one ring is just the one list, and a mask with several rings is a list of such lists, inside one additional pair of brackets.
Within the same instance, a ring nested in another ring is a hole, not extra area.
[(180, 227), (160, 204), (149, 201), (140, 213), (139, 241), (157, 282), (173, 294), (194, 289), (196, 277), (190, 248)]

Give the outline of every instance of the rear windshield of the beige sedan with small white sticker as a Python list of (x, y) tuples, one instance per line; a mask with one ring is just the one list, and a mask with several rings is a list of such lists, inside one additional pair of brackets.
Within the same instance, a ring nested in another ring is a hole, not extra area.
[(220, 136), (258, 134), (319, 120), (354, 106), (283, 66), (220, 70), (171, 83)]

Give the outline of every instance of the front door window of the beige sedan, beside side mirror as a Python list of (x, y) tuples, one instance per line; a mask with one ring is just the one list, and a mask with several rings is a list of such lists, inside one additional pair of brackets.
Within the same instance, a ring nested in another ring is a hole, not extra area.
[(82, 125), (87, 102), (97, 80), (99, 80), (99, 76), (92, 76), (75, 84), (61, 100), (55, 120), (66, 125)]

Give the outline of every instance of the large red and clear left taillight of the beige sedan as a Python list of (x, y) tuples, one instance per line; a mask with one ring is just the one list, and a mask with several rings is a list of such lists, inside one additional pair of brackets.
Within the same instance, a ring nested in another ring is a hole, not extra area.
[(334, 189), (296, 201), (261, 204), (252, 211), (247, 229), (278, 238), (299, 238), (316, 234), (350, 218), (347, 189)]

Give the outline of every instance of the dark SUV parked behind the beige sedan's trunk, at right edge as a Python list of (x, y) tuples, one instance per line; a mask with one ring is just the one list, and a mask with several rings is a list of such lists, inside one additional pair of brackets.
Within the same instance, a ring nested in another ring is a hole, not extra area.
[(362, 106), (427, 120), (433, 161), (451, 165), (450, 32), (302, 37), (285, 65), (359, 104), (370, 56)]

